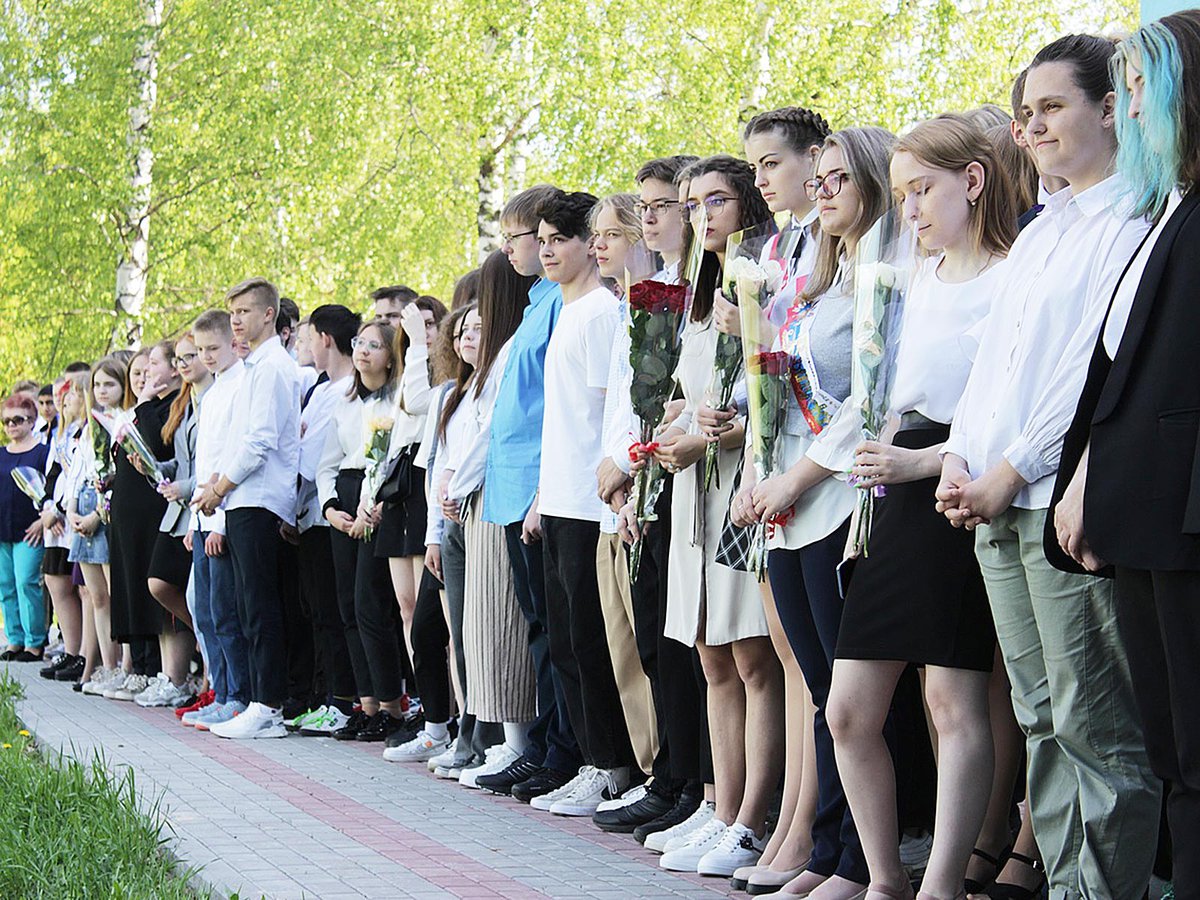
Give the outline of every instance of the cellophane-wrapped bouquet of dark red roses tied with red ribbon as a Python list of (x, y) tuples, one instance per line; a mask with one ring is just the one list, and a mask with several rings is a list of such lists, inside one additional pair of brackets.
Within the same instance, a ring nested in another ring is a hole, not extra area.
[[(707, 221), (707, 218), (706, 218)], [(692, 241), (678, 283), (659, 280), (658, 256), (644, 244), (635, 244), (625, 257), (625, 299), (629, 302), (629, 396), (637, 418), (637, 434), (629, 446), (630, 462), (643, 461), (634, 475), (634, 516), (638, 538), (629, 552), (629, 577), (637, 578), (642, 562), (641, 532), (655, 520), (654, 505), (662, 493), (662, 466), (654, 457), (655, 437), (667, 401), (674, 391), (683, 328), (691, 308), (692, 289), (703, 247)]]

